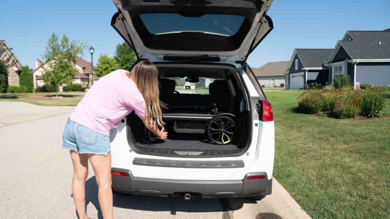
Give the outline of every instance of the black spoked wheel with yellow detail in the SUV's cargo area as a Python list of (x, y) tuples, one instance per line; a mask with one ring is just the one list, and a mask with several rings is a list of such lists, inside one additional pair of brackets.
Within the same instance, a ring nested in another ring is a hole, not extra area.
[(211, 142), (226, 145), (233, 141), (235, 122), (225, 115), (215, 115), (207, 127), (207, 135)]

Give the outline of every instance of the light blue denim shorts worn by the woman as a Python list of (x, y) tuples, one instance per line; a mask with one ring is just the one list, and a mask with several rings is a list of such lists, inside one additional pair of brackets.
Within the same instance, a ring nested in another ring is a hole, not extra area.
[(62, 134), (62, 148), (80, 154), (104, 154), (110, 152), (110, 136), (100, 134), (72, 120), (66, 122)]

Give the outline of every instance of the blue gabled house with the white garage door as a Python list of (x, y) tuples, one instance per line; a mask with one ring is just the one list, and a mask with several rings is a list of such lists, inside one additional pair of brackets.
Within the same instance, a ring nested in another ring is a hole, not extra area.
[(329, 70), (323, 66), (333, 49), (295, 49), (286, 71), (286, 89), (305, 89), (311, 84), (329, 83)]

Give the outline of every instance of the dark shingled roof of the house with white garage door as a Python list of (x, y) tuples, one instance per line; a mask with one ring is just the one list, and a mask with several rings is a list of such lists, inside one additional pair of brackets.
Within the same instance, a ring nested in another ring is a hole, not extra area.
[(322, 68), (333, 49), (295, 49), (304, 68)]

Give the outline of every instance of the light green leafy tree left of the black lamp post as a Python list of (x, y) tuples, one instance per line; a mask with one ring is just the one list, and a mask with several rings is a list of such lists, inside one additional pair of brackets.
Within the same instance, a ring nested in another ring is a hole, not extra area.
[(59, 42), (56, 33), (53, 33), (48, 39), (44, 59), (46, 64), (43, 66), (43, 81), (57, 88), (58, 96), (59, 86), (72, 83), (72, 79), (77, 73), (75, 67), (76, 58), (82, 54), (86, 46), (77, 40), (70, 41), (63, 34)]

